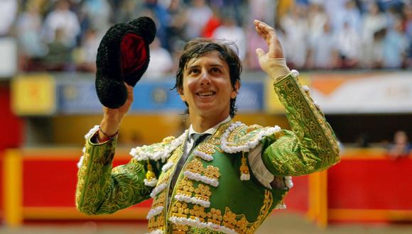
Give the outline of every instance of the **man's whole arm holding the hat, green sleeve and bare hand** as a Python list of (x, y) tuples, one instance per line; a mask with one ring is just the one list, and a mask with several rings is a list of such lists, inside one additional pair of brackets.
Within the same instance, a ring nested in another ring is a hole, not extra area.
[(83, 213), (113, 213), (149, 198), (151, 188), (143, 182), (146, 167), (141, 162), (133, 159), (112, 169), (116, 135), (133, 102), (133, 87), (126, 88), (126, 103), (115, 109), (103, 107), (100, 126), (86, 137), (76, 188), (76, 206)]

